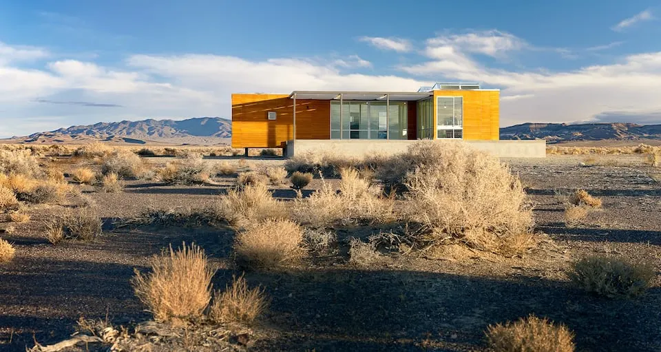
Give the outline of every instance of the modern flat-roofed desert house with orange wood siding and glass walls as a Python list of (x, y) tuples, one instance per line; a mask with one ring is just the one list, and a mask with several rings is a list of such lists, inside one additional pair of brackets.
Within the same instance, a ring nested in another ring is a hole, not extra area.
[[(499, 141), (500, 91), (436, 83), (418, 92), (232, 94), (232, 147), (401, 149), (417, 139)], [(498, 143), (491, 143), (496, 145)]]

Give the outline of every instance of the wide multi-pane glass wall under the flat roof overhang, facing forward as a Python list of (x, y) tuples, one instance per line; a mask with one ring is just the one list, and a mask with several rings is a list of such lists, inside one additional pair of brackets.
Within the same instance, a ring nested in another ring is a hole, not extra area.
[(330, 101), (331, 139), (406, 139), (406, 121), (406, 102)]

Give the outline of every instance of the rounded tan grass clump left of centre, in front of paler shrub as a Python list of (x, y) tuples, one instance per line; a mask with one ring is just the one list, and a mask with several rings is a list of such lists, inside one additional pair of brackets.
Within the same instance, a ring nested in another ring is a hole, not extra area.
[(270, 269), (291, 265), (305, 256), (303, 229), (290, 220), (265, 220), (236, 236), (234, 251), (240, 265)]

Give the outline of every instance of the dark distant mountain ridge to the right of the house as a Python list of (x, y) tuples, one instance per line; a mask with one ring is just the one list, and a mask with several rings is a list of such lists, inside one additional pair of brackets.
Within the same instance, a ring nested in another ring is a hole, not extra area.
[(501, 139), (545, 139), (548, 143), (604, 139), (660, 139), (661, 125), (637, 123), (523, 123), (501, 128)]

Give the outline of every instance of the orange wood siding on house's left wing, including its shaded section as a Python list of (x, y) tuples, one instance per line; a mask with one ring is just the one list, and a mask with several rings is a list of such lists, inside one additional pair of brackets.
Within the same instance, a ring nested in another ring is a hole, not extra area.
[[(275, 121), (268, 119), (276, 112)], [(232, 147), (277, 148), (293, 137), (288, 94), (232, 94)], [(296, 138), (330, 139), (330, 101), (296, 101)]]

